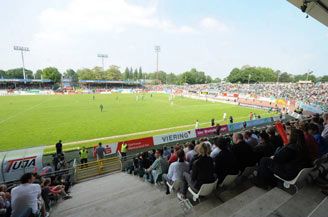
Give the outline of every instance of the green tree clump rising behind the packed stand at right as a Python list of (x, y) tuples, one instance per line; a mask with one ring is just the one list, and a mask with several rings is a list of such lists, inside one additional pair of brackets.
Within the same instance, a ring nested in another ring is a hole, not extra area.
[(328, 82), (328, 75), (316, 77), (313, 74), (298, 74), (292, 75), (280, 70), (274, 71), (266, 67), (251, 67), (243, 66), (242, 68), (234, 68), (228, 77), (224, 80), (231, 83), (258, 83), (258, 82), (298, 82), (298, 81), (312, 81), (312, 82)]

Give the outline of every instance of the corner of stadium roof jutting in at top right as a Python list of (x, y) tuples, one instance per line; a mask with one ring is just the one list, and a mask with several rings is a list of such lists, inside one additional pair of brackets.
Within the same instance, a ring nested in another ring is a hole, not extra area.
[(328, 0), (287, 0), (328, 27)]

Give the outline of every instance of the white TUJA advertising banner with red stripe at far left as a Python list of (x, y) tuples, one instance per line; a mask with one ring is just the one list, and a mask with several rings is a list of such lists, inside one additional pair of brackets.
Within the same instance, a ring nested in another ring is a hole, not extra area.
[(1, 182), (19, 180), (24, 173), (39, 172), (45, 146), (0, 152)]

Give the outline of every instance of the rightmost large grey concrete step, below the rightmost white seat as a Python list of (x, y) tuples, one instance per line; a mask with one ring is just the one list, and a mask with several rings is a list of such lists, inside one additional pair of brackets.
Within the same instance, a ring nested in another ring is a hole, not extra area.
[(307, 185), (268, 217), (308, 216), (324, 198), (325, 196), (320, 193), (318, 187)]

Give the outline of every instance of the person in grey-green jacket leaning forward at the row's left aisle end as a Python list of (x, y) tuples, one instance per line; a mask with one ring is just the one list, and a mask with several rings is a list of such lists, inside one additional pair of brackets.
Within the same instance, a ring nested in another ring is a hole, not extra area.
[(157, 149), (155, 152), (156, 160), (154, 163), (146, 170), (150, 174), (150, 182), (154, 183), (157, 178), (163, 173), (167, 173), (169, 164), (167, 160), (163, 159), (163, 150)]

